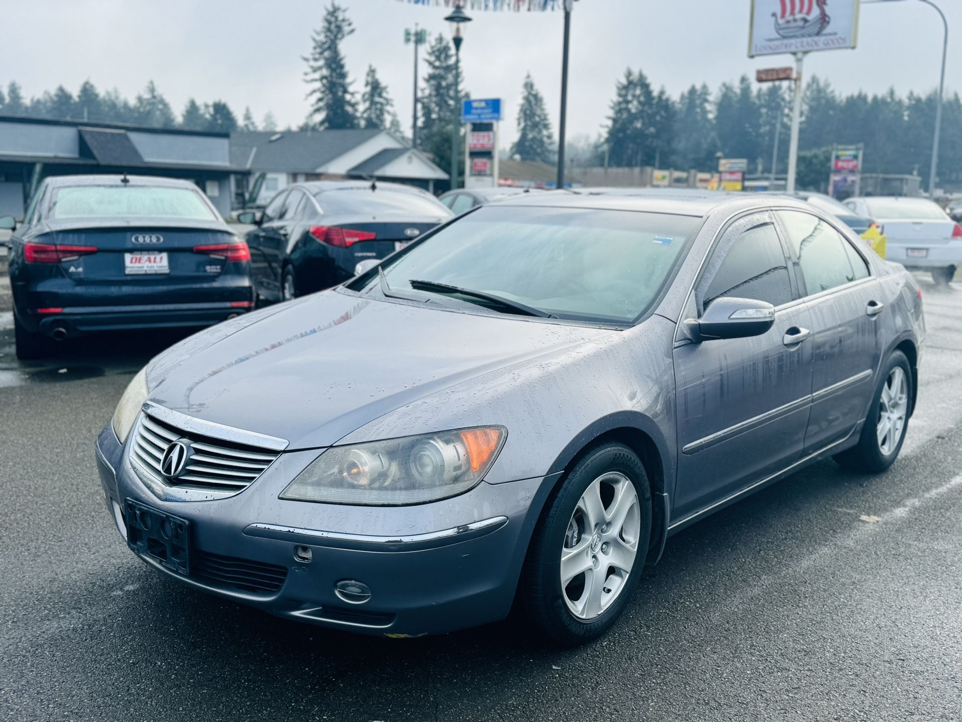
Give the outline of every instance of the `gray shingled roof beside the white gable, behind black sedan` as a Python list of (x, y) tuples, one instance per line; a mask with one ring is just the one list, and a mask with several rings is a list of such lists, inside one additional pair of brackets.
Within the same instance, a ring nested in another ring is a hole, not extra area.
[(313, 173), (383, 132), (370, 128), (231, 133), (231, 165), (250, 170)]

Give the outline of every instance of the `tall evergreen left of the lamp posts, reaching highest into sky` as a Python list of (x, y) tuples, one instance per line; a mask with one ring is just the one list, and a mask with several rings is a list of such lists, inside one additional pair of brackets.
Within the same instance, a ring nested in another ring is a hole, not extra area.
[(311, 86), (311, 114), (317, 128), (356, 128), (357, 108), (347, 66), (341, 52), (343, 39), (354, 33), (347, 11), (335, 0), (324, 11), (324, 22), (312, 34), (311, 55), (304, 81)]

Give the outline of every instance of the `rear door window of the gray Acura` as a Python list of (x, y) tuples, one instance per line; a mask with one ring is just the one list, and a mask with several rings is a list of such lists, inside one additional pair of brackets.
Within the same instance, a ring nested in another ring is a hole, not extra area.
[(865, 275), (856, 275), (848, 260), (847, 242), (826, 221), (802, 211), (777, 211), (777, 214), (798, 259), (806, 296), (821, 294), (868, 275), (864, 261)]

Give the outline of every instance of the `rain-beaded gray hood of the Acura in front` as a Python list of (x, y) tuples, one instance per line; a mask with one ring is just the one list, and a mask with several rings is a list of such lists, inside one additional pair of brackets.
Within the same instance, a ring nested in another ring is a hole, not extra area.
[(473, 376), (611, 333), (325, 291), (168, 349), (148, 367), (149, 400), (289, 450), (324, 447)]

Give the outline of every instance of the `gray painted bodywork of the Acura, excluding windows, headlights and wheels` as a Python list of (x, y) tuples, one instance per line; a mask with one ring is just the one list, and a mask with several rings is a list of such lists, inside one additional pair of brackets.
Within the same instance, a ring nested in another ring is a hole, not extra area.
[[(653, 524), (639, 564), (655, 563), (671, 533), (853, 446), (887, 354), (905, 349), (917, 375), (918, 288), (872, 254), (863, 258), (871, 272), (838, 289), (805, 293), (793, 273), (763, 335), (695, 338), (686, 322), (699, 314), (700, 279), (729, 234), (742, 238), (759, 221), (781, 227), (772, 214), (789, 210), (855, 247), (856, 237), (809, 206), (560, 193), (508, 206), (497, 211), (589, 219), (612, 209), (658, 212), (684, 217), (692, 232), (655, 237), (659, 246), (677, 244), (678, 260), (630, 322), (506, 315), (399, 297), (394, 286), (387, 296), (374, 270), (169, 349), (146, 369), (146, 400), (130, 437), (121, 443), (108, 425), (97, 441), (120, 532), (131, 524), (131, 503), (183, 519), (199, 567), (183, 574), (141, 558), (291, 619), (400, 636), (463, 629), (508, 614), (546, 505), (600, 440), (635, 451), (649, 470)], [(434, 235), (392, 257), (386, 276)], [(879, 312), (870, 315), (866, 303)], [(790, 338), (802, 324), (811, 330), (807, 343)], [(361, 352), (372, 343), (388, 352)], [(177, 487), (144, 465), (143, 425), (167, 429), (165, 439), (184, 434), (274, 460), (226, 497)], [(292, 478), (331, 450), (478, 425), (503, 425), (506, 438), (483, 480), (458, 496), (370, 506), (282, 498)], [(239, 588), (229, 575), (245, 569), (273, 582)], [(359, 604), (339, 586), (355, 581), (370, 592)]]

